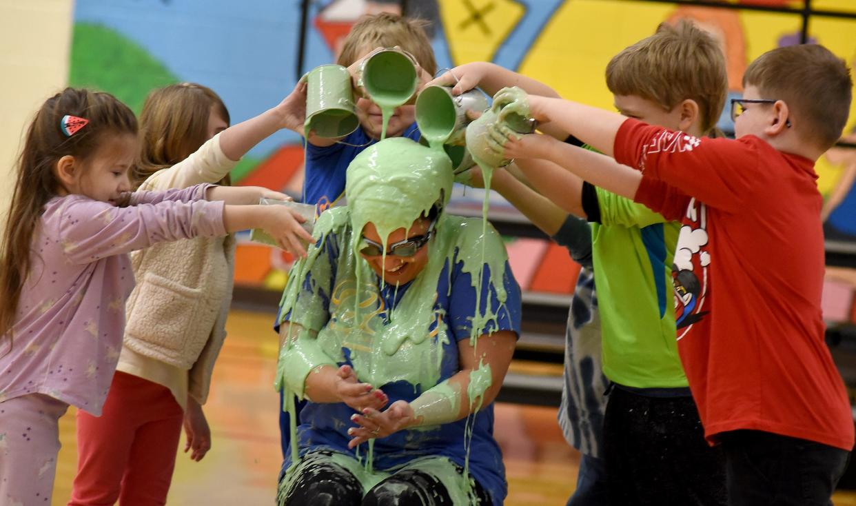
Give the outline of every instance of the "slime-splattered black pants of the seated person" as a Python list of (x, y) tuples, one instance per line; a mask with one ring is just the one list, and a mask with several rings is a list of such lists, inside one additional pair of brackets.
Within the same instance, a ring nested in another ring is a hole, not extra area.
[[(449, 491), (440, 480), (429, 473), (404, 469), (393, 473), (372, 487), (365, 496), (363, 485), (347, 469), (325, 460), (328, 451), (308, 454), (315, 458), (302, 469), (294, 485), (286, 492), (284, 504), (288, 506), (456, 506)], [(304, 458), (306, 458), (306, 456)], [(317, 457), (321, 458), (317, 458)], [(455, 465), (463, 474), (462, 467)], [(473, 480), (475, 481), (475, 480)], [(480, 506), (490, 506), (490, 497), (475, 482), (476, 497)]]

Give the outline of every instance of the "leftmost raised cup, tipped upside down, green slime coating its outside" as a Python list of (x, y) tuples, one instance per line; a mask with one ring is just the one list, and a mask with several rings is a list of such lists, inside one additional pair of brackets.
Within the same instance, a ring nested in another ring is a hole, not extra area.
[(321, 65), (306, 74), (306, 132), (343, 137), (360, 126), (351, 74), (342, 65)]

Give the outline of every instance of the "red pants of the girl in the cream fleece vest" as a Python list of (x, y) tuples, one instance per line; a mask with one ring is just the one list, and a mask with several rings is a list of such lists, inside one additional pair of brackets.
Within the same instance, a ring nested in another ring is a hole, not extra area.
[(68, 506), (165, 504), (183, 415), (166, 387), (116, 372), (104, 413), (77, 412), (77, 476)]

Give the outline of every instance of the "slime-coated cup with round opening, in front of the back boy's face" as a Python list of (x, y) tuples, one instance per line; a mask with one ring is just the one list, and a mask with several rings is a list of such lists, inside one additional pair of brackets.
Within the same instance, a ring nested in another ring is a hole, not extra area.
[(377, 51), (360, 64), (358, 85), (381, 107), (407, 104), (419, 87), (416, 63), (395, 48)]

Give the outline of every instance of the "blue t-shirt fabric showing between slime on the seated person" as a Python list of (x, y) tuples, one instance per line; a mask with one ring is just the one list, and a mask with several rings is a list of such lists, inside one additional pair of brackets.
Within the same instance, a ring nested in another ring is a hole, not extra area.
[[(336, 211), (340, 211), (337, 209)], [(344, 211), (344, 210), (342, 210)], [(463, 223), (469, 226), (464, 227)], [(478, 223), (471, 223), (478, 222)], [(445, 229), (447, 235), (458, 234), (460, 229), (473, 229), (478, 227), (481, 229), (481, 221), (472, 218), (461, 217), (444, 217), (438, 223), (437, 229)], [(496, 235), (496, 231), (489, 228), (490, 234), (495, 235), (495, 240), (488, 241), (491, 247), (502, 248), (502, 241)], [(318, 271), (324, 273), (322, 276), (329, 280), (325, 283), (319, 280), (317, 276), (313, 277), (312, 271), (307, 275), (303, 285), (303, 290), (299, 297), (307, 297), (311, 299), (310, 307), (312, 309), (300, 311), (300, 304), (295, 306), (294, 314), (288, 314), (288, 319), (294, 323), (301, 324), (305, 328), (312, 330), (323, 329), (329, 325), (335, 325), (337, 306), (353, 304), (353, 262), (354, 260), (343, 260), (340, 254), (348, 253), (348, 247), (351, 244), (351, 231), (349, 226), (342, 231), (341, 234), (327, 235), (326, 239), (321, 244), (322, 251), (316, 264), (319, 264)], [(491, 238), (493, 239), (493, 237)], [(449, 244), (449, 242), (447, 242)], [(436, 284), (431, 285), (431, 295), (436, 295), (434, 302), (434, 313), (436, 318), (433, 318), (433, 323), (429, 328), (429, 339), (437, 343), (438, 336), (447, 336), (448, 341), (442, 342), (443, 352), (442, 360), (439, 362), (439, 374), (435, 384), (443, 382), (450, 378), (456, 372), (461, 370), (460, 357), (458, 350), (458, 342), (470, 339), (470, 331), (472, 329), (473, 315), (476, 305), (476, 290), (473, 287), (471, 275), (463, 270), (463, 262), (460, 261), (461, 252), (458, 247), (452, 245), (445, 251), (437, 251), (440, 247), (431, 248), (429, 245), (429, 256), (445, 255), (447, 258), (444, 261), (443, 269), (436, 278)], [(437, 245), (434, 245), (437, 246)], [(504, 253), (504, 252), (502, 252)], [(358, 261), (365, 263), (363, 259)], [(343, 263), (344, 262), (344, 263)], [(342, 265), (346, 265), (343, 269)], [(451, 275), (449, 275), (451, 269)], [(343, 275), (342, 270), (346, 271)], [(316, 272), (318, 272), (316, 271)], [(380, 288), (380, 283), (377, 275), (369, 271), (371, 276), (364, 279), (365, 283), (372, 283), (377, 290), (372, 290), (371, 293), (379, 295), (376, 305), (366, 307), (366, 313), (369, 317), (366, 318), (382, 318), (383, 325), (389, 324), (389, 308), (392, 309), (393, 319), (395, 319), (396, 309), (402, 303), (413, 303), (413, 297), (405, 300), (405, 295), (411, 289), (415, 288), (416, 283), (425, 283), (426, 280), (414, 280), (404, 286), (395, 287), (385, 286)], [(501, 303), (497, 297), (497, 287), (488, 282), (490, 269), (488, 265), (483, 266), (484, 281), (481, 286), (481, 307), (487, 307), (490, 304), (491, 313), (496, 313), (496, 319), (491, 321), (482, 332), (483, 335), (489, 335), (497, 330), (511, 330), (519, 334), (520, 330), (520, 287), (514, 280), (508, 262), (504, 263), (504, 271), (497, 273), (502, 277), (499, 287), (505, 292), (505, 302)], [(425, 274), (423, 271), (422, 274)], [(420, 274), (420, 276), (422, 275)], [(428, 281), (432, 283), (433, 280)], [(434, 290), (436, 287), (436, 291)], [(348, 298), (348, 297), (351, 298)], [(323, 307), (324, 311), (318, 311), (318, 308)], [(351, 306), (348, 306), (351, 307)], [(334, 315), (332, 318), (330, 315)], [(312, 316), (314, 315), (314, 316)], [(318, 315), (321, 315), (320, 317)], [(322, 318), (326, 318), (324, 321)], [(443, 332), (437, 331), (437, 324), (443, 325)], [(375, 327), (377, 328), (377, 327)], [(487, 337), (490, 338), (490, 337)], [(353, 337), (349, 338), (353, 341), (359, 341)], [(349, 342), (349, 339), (337, 341), (336, 346), (341, 346), (341, 357), (344, 360), (336, 360), (339, 366), (348, 364), (354, 366), (351, 361), (353, 346), (365, 346), (366, 342), (360, 344)], [(371, 336), (367, 336), (367, 342), (371, 341)], [(406, 344), (402, 344), (402, 348)], [(398, 352), (396, 352), (397, 354)], [(390, 357), (390, 360), (393, 357)], [(425, 366), (426, 363), (431, 363), (430, 356), (416, 357), (418, 360), (413, 360), (413, 364), (407, 364), (408, 367), (419, 368)], [(359, 367), (354, 366), (355, 371), (360, 378), (360, 381), (366, 381), (364, 376), (360, 375)], [(398, 400), (413, 402), (416, 397), (421, 395), (424, 390), (428, 390), (434, 384), (414, 385), (407, 381), (395, 381), (387, 384), (375, 384), (377, 388), (389, 396), (389, 404)], [(300, 440), (300, 455), (305, 454), (312, 449), (330, 449), (336, 452), (355, 455), (354, 450), (348, 449), (348, 441), (351, 439), (348, 436), (348, 428), (356, 426), (350, 420), (355, 411), (349, 408), (344, 403), (315, 403), (307, 402), (306, 407), (300, 414), (300, 426), (298, 426), (298, 438)], [(505, 471), (502, 464), (502, 454), (496, 440), (493, 438), (493, 403), (481, 408), (474, 417), (469, 417), (473, 429), (473, 439), (470, 447), (470, 473), (473, 475), (479, 485), (490, 494), (494, 504), (501, 504), (502, 499), (506, 496), (507, 485), (505, 482)], [(374, 443), (374, 468), (386, 470), (391, 467), (401, 466), (413, 459), (427, 456), (439, 455), (448, 457), (459, 466), (464, 466), (466, 450), (464, 446), (464, 434), (467, 419), (458, 420), (442, 426), (420, 427), (414, 430), (405, 430), (395, 432), (387, 438), (378, 438)], [(361, 445), (360, 455), (366, 455), (367, 445)], [(290, 452), (286, 452), (287, 467), (290, 464)]]

